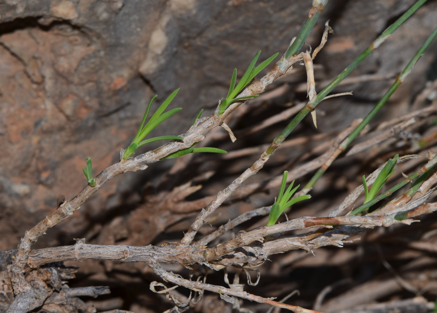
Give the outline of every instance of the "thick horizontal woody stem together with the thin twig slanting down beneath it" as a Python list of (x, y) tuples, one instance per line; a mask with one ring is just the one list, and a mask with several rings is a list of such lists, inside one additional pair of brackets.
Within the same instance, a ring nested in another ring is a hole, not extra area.
[[(437, 163), (437, 157), (430, 160), (421, 170), (416, 174), (424, 173)], [(428, 180), (432, 185), (436, 181), (436, 175), (431, 175)], [(429, 189), (429, 188), (428, 188)], [(435, 189), (435, 188), (434, 188)], [(420, 197), (420, 203), (423, 203), (434, 189), (430, 189), (425, 196)], [(426, 189), (423, 189), (425, 192)], [(251, 232), (239, 233), (235, 238), (229, 240), (226, 243), (218, 245), (214, 248), (204, 249), (204, 247), (194, 247), (193, 245), (180, 245), (176, 243), (168, 244), (162, 247), (146, 246), (146, 247), (132, 247), (132, 246), (99, 246), (99, 245), (87, 245), (84, 240), (78, 240), (76, 245), (69, 247), (55, 247), (36, 250), (31, 252), (28, 264), (31, 267), (39, 267), (43, 264), (54, 261), (66, 261), (77, 260), (82, 261), (86, 259), (97, 260), (112, 260), (121, 262), (145, 262), (156, 271), (156, 262), (164, 263), (179, 263), (185, 267), (189, 267), (190, 264), (205, 264), (214, 269), (224, 268), (227, 265), (232, 264), (248, 264), (253, 262), (253, 255), (256, 255), (258, 259), (257, 264), (263, 263), (267, 257), (271, 254), (281, 253), (293, 249), (305, 249), (322, 247), (326, 245), (341, 246), (344, 242), (347, 242), (349, 236), (356, 235), (371, 227), (375, 226), (389, 226), (393, 223), (411, 223), (412, 217), (430, 213), (437, 210), (437, 203), (420, 204), (414, 203), (416, 206), (414, 209), (407, 209), (407, 212), (401, 213), (402, 221), (399, 220), (398, 212), (391, 212), (392, 214), (383, 216), (340, 216), (340, 217), (327, 217), (327, 218), (312, 218), (302, 217), (294, 219), (285, 223), (277, 224), (270, 227), (261, 227)], [(417, 206), (419, 205), (419, 206)], [(265, 208), (259, 209), (260, 211)], [(256, 214), (252, 215), (255, 216)], [(250, 216), (250, 215), (249, 215)], [(353, 225), (355, 227), (342, 227), (339, 226), (335, 230), (326, 232), (326, 227), (333, 225)], [(277, 237), (274, 240), (265, 241), (266, 236), (275, 236), (281, 234), (284, 231), (295, 229), (306, 229), (311, 227), (323, 227), (323, 229), (310, 233), (304, 236), (283, 236)], [(258, 241), (262, 243), (262, 247), (258, 247), (257, 250), (251, 250), (250, 254), (238, 254), (237, 248), (250, 249), (248, 245), (252, 242)], [(253, 253), (257, 252), (257, 253)], [(225, 258), (224, 258), (225, 257)], [(255, 260), (256, 261), (256, 260)], [(213, 286), (204, 284), (202, 282), (191, 282), (189, 280), (179, 278), (172, 273), (160, 273), (162, 277), (169, 282), (173, 282), (177, 285), (181, 285), (191, 289), (203, 289), (214, 292), (222, 292), (222, 295), (228, 294), (232, 296), (239, 296), (243, 299), (250, 299), (262, 303), (267, 303), (266, 298), (257, 297), (247, 293), (239, 293), (235, 290), (230, 292), (221, 286)], [(218, 292), (218, 293), (220, 293)], [(269, 303), (274, 304), (274, 303)], [(295, 312), (304, 312), (296, 309)], [(302, 309), (305, 310), (305, 309)], [(306, 311), (311, 312), (311, 311)]]

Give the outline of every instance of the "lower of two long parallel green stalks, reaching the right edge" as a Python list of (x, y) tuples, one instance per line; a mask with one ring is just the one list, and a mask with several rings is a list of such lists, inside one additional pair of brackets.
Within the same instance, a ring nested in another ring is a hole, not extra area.
[[(375, 107), (370, 111), (370, 113), (363, 119), (363, 121), (360, 123), (360, 125), (357, 126), (357, 128), (354, 129), (353, 132), (350, 133), (349, 136), (347, 136), (346, 139), (343, 140), (343, 142), (340, 144), (337, 150), (344, 151), (347, 146), (358, 136), (358, 134), (364, 129), (364, 127), (371, 121), (372, 118), (375, 117), (375, 115), (378, 113), (379, 110), (384, 106), (384, 104), (388, 101), (388, 99), (391, 97), (391, 95), (395, 92), (395, 90), (400, 86), (401, 83), (405, 80), (405, 78), (408, 76), (408, 74), (413, 69), (414, 65), (416, 64), (417, 60), (420, 59), (420, 56), (428, 49), (431, 42), (436, 38), (437, 36), (437, 28), (434, 29), (434, 31), (431, 33), (431, 35), (427, 38), (427, 40), (423, 43), (423, 45), (420, 47), (420, 49), (416, 52), (416, 54), (413, 56), (413, 58), (409, 61), (407, 66), (404, 68), (402, 73), (399, 74), (399, 76), (396, 78), (395, 82), (392, 84), (392, 86), (387, 90), (387, 92), (384, 94), (384, 96), (381, 98), (381, 100), (378, 101), (378, 103), (375, 105)], [(344, 71), (343, 71), (344, 72)], [(313, 177), (309, 180), (309, 182), (305, 185), (304, 189), (311, 189), (314, 184), (316, 184), (316, 181), (319, 180), (320, 177), (325, 173), (327, 167), (321, 167), (319, 170), (317, 170), (316, 174), (314, 174)]]

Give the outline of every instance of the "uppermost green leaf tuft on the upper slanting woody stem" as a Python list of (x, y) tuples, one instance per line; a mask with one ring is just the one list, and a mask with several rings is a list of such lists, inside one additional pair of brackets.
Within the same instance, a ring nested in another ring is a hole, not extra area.
[(264, 69), (264, 67), (266, 67), (271, 61), (273, 61), (273, 59), (276, 58), (277, 55), (279, 54), (279, 52), (275, 53), (273, 56), (265, 60), (257, 67), (255, 67), (255, 63), (257, 62), (260, 53), (261, 50), (258, 51), (258, 53), (255, 55), (249, 67), (247, 68), (246, 72), (244, 73), (243, 77), (241, 77), (241, 80), (236, 86), (235, 86), (235, 82), (237, 78), (237, 69), (234, 69), (234, 73), (232, 73), (231, 85), (229, 86), (228, 95), (226, 96), (226, 99), (224, 99), (219, 105), (219, 110), (218, 110), (219, 114), (223, 114), (223, 112), (229, 107), (229, 105), (231, 105), (235, 101), (259, 96), (259, 94), (254, 94), (252, 96), (236, 98), (237, 94), (239, 94), (241, 90), (243, 90), (244, 87), (246, 87), (253, 80), (253, 78), (257, 76), (257, 74), (260, 73)]

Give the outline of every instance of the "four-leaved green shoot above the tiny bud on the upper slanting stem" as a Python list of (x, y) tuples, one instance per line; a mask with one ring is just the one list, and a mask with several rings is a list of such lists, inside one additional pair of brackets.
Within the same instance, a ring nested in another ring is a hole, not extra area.
[[(163, 104), (160, 105), (158, 110), (152, 115), (152, 117), (149, 119), (149, 122), (146, 123), (144, 126), (144, 123), (146, 122), (146, 118), (149, 115), (150, 108), (152, 106), (153, 100), (157, 97), (157, 95), (153, 96), (152, 99), (150, 99), (149, 105), (147, 106), (146, 113), (144, 113), (144, 116), (141, 121), (141, 125), (139, 126), (138, 132), (135, 135), (135, 138), (132, 140), (132, 143), (128, 146), (128, 148), (123, 153), (123, 160), (126, 160), (128, 157), (134, 153), (134, 151), (140, 147), (145, 145), (146, 143), (153, 143), (155, 141), (159, 140), (183, 140), (184, 138), (179, 136), (160, 136), (160, 137), (153, 137), (150, 139), (143, 140), (144, 137), (146, 137), (149, 132), (151, 132), (156, 126), (160, 125), (162, 122), (164, 122), (167, 118), (175, 114), (177, 111), (180, 111), (182, 108), (174, 108), (170, 111), (167, 111), (163, 113), (163, 111), (167, 108), (167, 106), (170, 104), (170, 102), (173, 100), (173, 98), (176, 96), (179, 89), (173, 91), (170, 96), (163, 102)], [(143, 127), (144, 126), (144, 127)]]

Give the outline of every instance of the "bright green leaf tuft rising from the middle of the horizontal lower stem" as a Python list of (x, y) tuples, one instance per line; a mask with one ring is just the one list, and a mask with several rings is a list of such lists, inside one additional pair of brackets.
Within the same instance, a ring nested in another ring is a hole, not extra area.
[(310, 195), (302, 195), (290, 200), (291, 196), (295, 193), (295, 191), (299, 188), (300, 185), (297, 185), (295, 188), (293, 188), (293, 184), (295, 183), (295, 181), (292, 181), (291, 184), (288, 186), (287, 190), (285, 190), (285, 184), (287, 183), (287, 176), (288, 176), (288, 171), (284, 171), (284, 174), (282, 175), (281, 189), (279, 189), (279, 195), (277, 196), (276, 201), (272, 205), (267, 226), (274, 225), (277, 219), (279, 219), (279, 216), (281, 216), (281, 214), (286, 209), (288, 209), (291, 205), (295, 204), (296, 202), (311, 198)]

